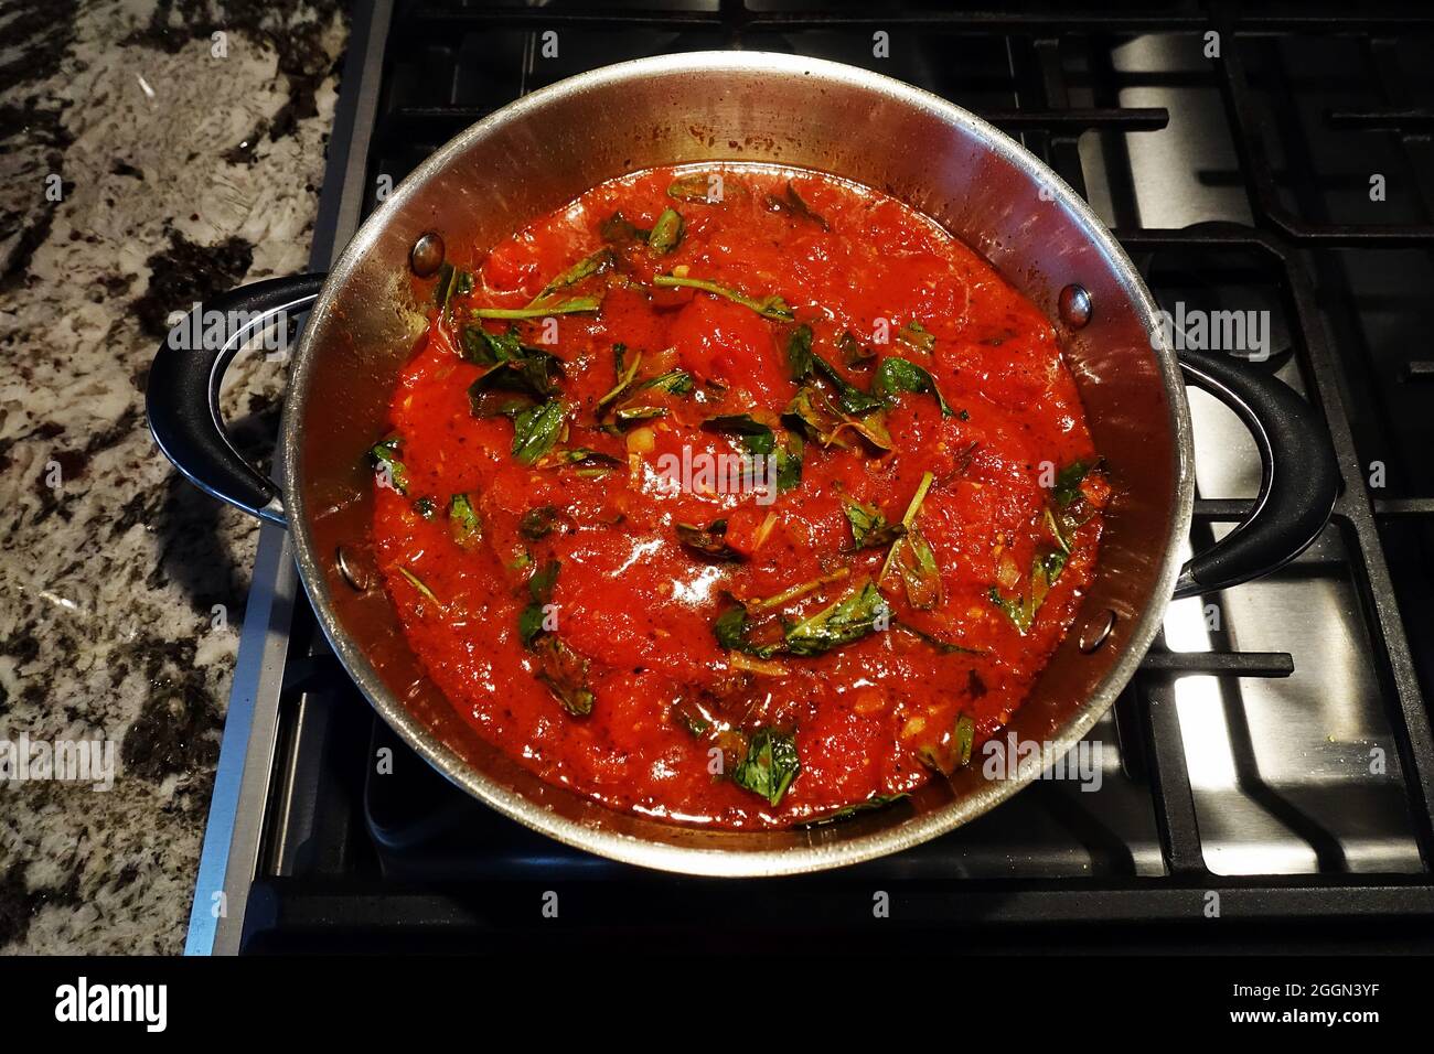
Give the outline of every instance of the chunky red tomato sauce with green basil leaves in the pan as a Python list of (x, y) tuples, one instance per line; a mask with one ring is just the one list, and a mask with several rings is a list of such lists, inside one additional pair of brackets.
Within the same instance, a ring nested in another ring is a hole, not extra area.
[(482, 736), (612, 809), (727, 829), (979, 764), (1108, 495), (1030, 301), (886, 195), (756, 165), (607, 182), (459, 262), (373, 531)]

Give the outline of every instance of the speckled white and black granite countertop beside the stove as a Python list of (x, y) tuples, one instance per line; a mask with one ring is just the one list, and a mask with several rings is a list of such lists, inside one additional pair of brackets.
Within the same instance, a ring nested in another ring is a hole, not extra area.
[[(347, 19), (11, 0), (0, 36), (0, 774), (22, 737), (115, 764), (0, 782), (0, 951), (178, 952), (258, 532), (178, 478), (142, 393), (171, 311), (304, 270)], [(258, 460), (282, 370), (229, 371)]]

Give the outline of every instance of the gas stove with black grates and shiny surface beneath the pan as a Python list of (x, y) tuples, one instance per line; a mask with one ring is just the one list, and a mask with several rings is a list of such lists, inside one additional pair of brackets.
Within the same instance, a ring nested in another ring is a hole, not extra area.
[[(1170, 608), (1091, 733), (1098, 790), (1037, 782), (926, 845), (774, 880), (618, 865), (447, 784), (348, 681), (287, 536), (265, 526), (188, 952), (575, 935), (717, 946), (759, 929), (847, 948), (891, 931), (984, 948), (1093, 932), (1156, 949), (1427, 939), (1434, 11), (373, 0), (354, 14), (314, 268), (432, 151), (525, 92), (723, 47), (835, 59), (942, 95), (1083, 194), (1177, 324), (1256, 313), (1252, 369), (1328, 423), (1345, 480), (1334, 519), (1283, 571)], [(1229, 410), (1190, 399), (1199, 549), (1249, 511), (1260, 466)]]

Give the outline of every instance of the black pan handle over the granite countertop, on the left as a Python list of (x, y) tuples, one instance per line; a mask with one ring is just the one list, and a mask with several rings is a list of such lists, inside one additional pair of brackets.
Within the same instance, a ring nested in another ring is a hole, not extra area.
[[(175, 467), (201, 490), (280, 525), (284, 496), (229, 442), (219, 419), (219, 383), (251, 336), (318, 298), (324, 277), (270, 278), (195, 305), (159, 346), (145, 390), (149, 430)], [(215, 337), (206, 323), (218, 318), (227, 321)]]

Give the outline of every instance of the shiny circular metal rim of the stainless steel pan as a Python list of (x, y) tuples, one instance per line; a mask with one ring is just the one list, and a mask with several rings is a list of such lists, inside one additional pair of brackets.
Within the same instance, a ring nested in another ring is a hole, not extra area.
[(1130, 627), (1123, 644), (1123, 652), (1111, 664), (1110, 670), (1106, 671), (1100, 684), (1090, 693), (1076, 716), (1057, 730), (1057, 736), (1053, 740), (1057, 756), (1063, 756), (1070, 747), (1084, 739), (1091, 727), (1106, 714), (1154, 641), (1163, 624), (1164, 612), (1170, 602), (1169, 598), (1174, 591), (1176, 578), (1180, 571), (1179, 543), (1189, 535), (1195, 503), (1193, 440), (1183, 376), (1174, 350), (1166, 341), (1162, 328), (1156, 324), (1157, 310), (1154, 300), (1140, 280), (1134, 264), (1086, 201), (1055, 172), (1004, 132), (955, 103), (949, 103), (936, 95), (905, 82), (825, 59), (804, 59), (769, 52), (691, 52), (674, 56), (634, 59), (556, 82), (509, 103), (450, 139), (389, 194), (386, 208), (373, 212), (363, 222), (324, 281), (310, 323), (300, 338), (288, 393), (284, 400), (280, 435), (280, 456), (284, 466), (290, 532), (294, 541), (300, 579), (314, 607), (318, 625), (364, 698), (369, 700), (369, 704), (394, 728), (404, 743), (452, 783), (508, 819), (516, 820), (526, 827), (576, 849), (655, 870), (710, 878), (800, 875), (886, 856), (969, 823), (1024, 789), (1035, 779), (1035, 774), (987, 782), (978, 793), (958, 797), (939, 809), (911, 817), (889, 829), (829, 845), (813, 842), (806, 848), (797, 849), (734, 852), (727, 848), (700, 849), (678, 846), (604, 830), (559, 816), (548, 807), (511, 792), (478, 769), (469, 766), (452, 747), (437, 740), (400, 703), (394, 693), (389, 690), (367, 655), (337, 619), (330, 601), (328, 579), (324, 574), (323, 561), (320, 554), (315, 552), (314, 539), (308, 528), (303, 489), (290, 483), (300, 465), (303, 422), (295, 407), (305, 404), (310, 386), (314, 383), (311, 334), (318, 331), (318, 323), (334, 311), (338, 290), (347, 284), (347, 277), (358, 267), (370, 247), (386, 229), (387, 215), (396, 214), (403, 202), (414, 195), (422, 185), (442, 172), (475, 142), (488, 136), (492, 129), (522, 120), (528, 113), (555, 100), (598, 87), (611, 87), (624, 82), (661, 75), (759, 72), (816, 76), (845, 86), (875, 92), (899, 105), (931, 112), (941, 120), (965, 129), (974, 139), (1015, 166), (1034, 172), (1051, 188), (1054, 201), (1068, 211), (1088, 241), (1110, 262), (1131, 307), (1141, 315), (1146, 330), (1153, 334), (1152, 353), (1156, 356), (1162, 380), (1166, 391), (1170, 394), (1167, 409), (1176, 456), (1176, 508), (1172, 515), (1169, 536), (1163, 539), (1162, 564), (1153, 581), (1152, 599)]

